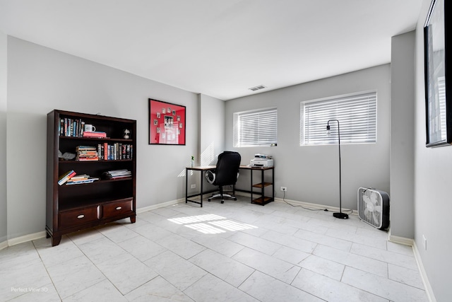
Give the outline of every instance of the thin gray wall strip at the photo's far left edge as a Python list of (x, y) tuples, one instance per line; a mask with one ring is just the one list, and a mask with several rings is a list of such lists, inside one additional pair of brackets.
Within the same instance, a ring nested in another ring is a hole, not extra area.
[(0, 244), (7, 240), (6, 226), (6, 35), (0, 31)]

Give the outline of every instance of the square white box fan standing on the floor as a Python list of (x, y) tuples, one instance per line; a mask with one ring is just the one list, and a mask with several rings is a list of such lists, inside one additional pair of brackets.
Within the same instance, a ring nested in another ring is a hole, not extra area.
[(375, 228), (386, 230), (389, 226), (389, 196), (388, 193), (371, 188), (358, 189), (359, 219)]

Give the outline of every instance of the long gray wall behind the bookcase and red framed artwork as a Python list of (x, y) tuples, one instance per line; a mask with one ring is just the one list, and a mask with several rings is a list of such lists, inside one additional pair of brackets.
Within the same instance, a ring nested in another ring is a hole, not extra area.
[[(186, 106), (186, 146), (148, 145), (148, 98)], [(137, 120), (138, 209), (185, 196), (182, 172), (198, 150), (195, 93), (8, 37), (7, 105), (8, 238), (44, 231), (46, 119), (53, 109)]]

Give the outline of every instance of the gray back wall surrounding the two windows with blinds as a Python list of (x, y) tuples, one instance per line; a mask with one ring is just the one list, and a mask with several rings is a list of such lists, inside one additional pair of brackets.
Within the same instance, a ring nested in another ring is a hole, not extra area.
[[(391, 109), (389, 64), (328, 79), (303, 83), (226, 102), (226, 149), (232, 149), (232, 114), (256, 108), (278, 108), (278, 146), (238, 148), (242, 163), (255, 153), (275, 159), (275, 193), (285, 198), (331, 207), (339, 206), (338, 146), (299, 146), (300, 102), (376, 90), (376, 144), (341, 145), (343, 208), (357, 209), (359, 187), (389, 192), (389, 119)], [(326, 125), (325, 125), (326, 126)], [(239, 187), (239, 186), (237, 186)]]

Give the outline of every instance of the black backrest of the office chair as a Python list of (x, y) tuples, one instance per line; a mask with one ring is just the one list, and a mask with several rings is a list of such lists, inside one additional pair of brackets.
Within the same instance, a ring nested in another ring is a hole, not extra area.
[(242, 157), (238, 152), (223, 151), (218, 156), (213, 185), (235, 185)]

